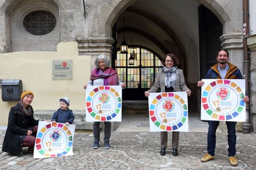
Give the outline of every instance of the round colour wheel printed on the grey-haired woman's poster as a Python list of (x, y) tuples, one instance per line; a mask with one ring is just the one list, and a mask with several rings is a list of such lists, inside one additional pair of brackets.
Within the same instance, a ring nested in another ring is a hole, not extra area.
[[(108, 102), (111, 99), (111, 102), (115, 103), (115, 107), (111, 107), (109, 110), (105, 109), (108, 112), (106, 114), (102, 109), (102, 102), (100, 99), (102, 95), (108, 96)], [(88, 113), (96, 120), (109, 121), (115, 118), (120, 112), (122, 106), (121, 101), (121, 96), (114, 88), (111, 88), (110, 86), (99, 86), (93, 89), (86, 98), (86, 109)]]

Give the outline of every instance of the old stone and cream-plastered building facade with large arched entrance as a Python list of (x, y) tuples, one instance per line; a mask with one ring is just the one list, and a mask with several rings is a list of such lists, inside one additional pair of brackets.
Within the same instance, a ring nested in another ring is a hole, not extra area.
[[(254, 129), (255, 3), (249, 0), (248, 35)], [(192, 90), (190, 111), (198, 111), (196, 83), (216, 62), (219, 48), (228, 49), (230, 62), (243, 71), (242, 7), (242, 0), (86, 0), (85, 7), (83, 0), (0, 0), (0, 79), (21, 79), (23, 90), (35, 93), (35, 111), (57, 109), (63, 96), (70, 98), (71, 109), (82, 111), (83, 85), (99, 54), (109, 57), (127, 83), (125, 100), (145, 100), (143, 91), (154, 82), (159, 61), (173, 53)], [(123, 40), (128, 55), (119, 52)], [(137, 64), (129, 65), (132, 51)], [(72, 78), (54, 79), (53, 60), (72, 60)], [(0, 102), (0, 125), (7, 125), (14, 104)]]

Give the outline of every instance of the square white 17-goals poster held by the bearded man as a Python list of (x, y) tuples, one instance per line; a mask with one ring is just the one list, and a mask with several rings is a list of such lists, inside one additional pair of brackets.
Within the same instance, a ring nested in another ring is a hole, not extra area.
[(245, 122), (245, 80), (203, 79), (201, 120)]

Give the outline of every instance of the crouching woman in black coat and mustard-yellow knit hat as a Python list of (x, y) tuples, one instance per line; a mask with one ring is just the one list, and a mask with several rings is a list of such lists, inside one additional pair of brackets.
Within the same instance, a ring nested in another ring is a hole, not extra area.
[(3, 152), (19, 155), (22, 154), (22, 147), (29, 147), (28, 151), (33, 151), (39, 123), (39, 120), (34, 119), (34, 111), (30, 105), (33, 98), (32, 91), (24, 91), (21, 100), (11, 108), (2, 146)]

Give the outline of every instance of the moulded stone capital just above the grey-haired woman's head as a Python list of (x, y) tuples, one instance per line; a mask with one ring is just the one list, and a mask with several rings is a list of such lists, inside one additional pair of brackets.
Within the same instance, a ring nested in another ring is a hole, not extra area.
[(94, 68), (95, 58), (105, 54), (111, 63), (112, 37), (77, 37), (79, 55), (91, 55), (91, 70)]

